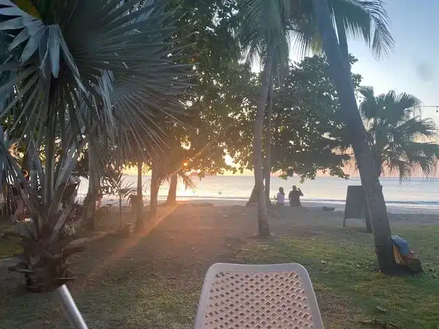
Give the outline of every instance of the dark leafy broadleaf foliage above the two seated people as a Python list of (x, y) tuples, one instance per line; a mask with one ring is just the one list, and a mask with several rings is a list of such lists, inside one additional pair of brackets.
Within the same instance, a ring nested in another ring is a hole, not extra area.
[[(353, 75), (355, 86), (360, 81), (359, 75)], [(240, 141), (228, 147), (241, 170), (252, 168), (250, 145), (254, 111), (252, 99), (236, 115)], [(340, 134), (344, 125), (339, 112), (340, 103), (324, 58), (313, 56), (290, 64), (285, 85), (276, 88), (274, 93), (272, 172), (281, 171), (284, 177), (300, 175), (302, 180), (315, 178), (318, 171), (346, 178), (342, 167), (350, 157), (337, 152), (345, 143)]]

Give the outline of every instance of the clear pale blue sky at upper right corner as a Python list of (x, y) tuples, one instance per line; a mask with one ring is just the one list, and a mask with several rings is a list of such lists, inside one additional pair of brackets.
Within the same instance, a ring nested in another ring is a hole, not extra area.
[[(364, 42), (350, 40), (349, 52), (358, 59), (352, 71), (377, 93), (394, 89), (439, 106), (439, 0), (385, 0), (385, 8), (394, 52), (377, 61)], [(423, 108), (423, 117), (439, 123), (436, 108)]]

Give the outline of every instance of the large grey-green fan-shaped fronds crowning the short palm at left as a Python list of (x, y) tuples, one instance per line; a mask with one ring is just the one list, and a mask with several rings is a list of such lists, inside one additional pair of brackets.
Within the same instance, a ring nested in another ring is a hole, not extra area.
[[(0, 90), (26, 83), (1, 115), (21, 99), (23, 117), (35, 121), (29, 131), (42, 131), (50, 114), (62, 132), (69, 127), (77, 135), (81, 123), (114, 126), (116, 119), (140, 135), (150, 133), (155, 113), (177, 110), (178, 96), (188, 86), (189, 68), (176, 64), (180, 55), (172, 48), (174, 29), (165, 1), (143, 1), (132, 11), (133, 1), (117, 9), (106, 0), (76, 2), (74, 15), (67, 12), (69, 5), (54, 13), (60, 15), (59, 25), (3, 3), (0, 31), (12, 36), (12, 56), (2, 63), (2, 75), (14, 72), (15, 77)], [(61, 103), (69, 103), (67, 115)]]

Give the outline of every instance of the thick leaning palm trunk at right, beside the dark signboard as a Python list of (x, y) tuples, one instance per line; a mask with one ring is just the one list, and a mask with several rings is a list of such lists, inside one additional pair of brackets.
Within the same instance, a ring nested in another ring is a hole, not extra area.
[(359, 115), (354, 87), (351, 79), (351, 70), (344, 64), (337, 36), (331, 21), (327, 0), (313, 0), (314, 10), (318, 19), (318, 28), (324, 52), (335, 82), (346, 129), (351, 138), (357, 166), (361, 177), (361, 184), (366, 196), (366, 204), (372, 222), (379, 269), (383, 273), (392, 273), (395, 269), (393, 243), (388, 221), (385, 201), (375, 169), (372, 151), (368, 145), (368, 138), (363, 121)]

